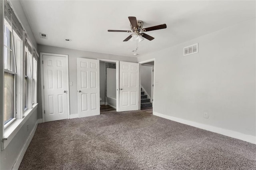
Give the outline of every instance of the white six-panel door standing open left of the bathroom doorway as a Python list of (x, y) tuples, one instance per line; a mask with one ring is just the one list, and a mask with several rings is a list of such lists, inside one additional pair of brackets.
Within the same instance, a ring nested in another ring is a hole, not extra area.
[(100, 115), (100, 61), (77, 58), (78, 117)]

